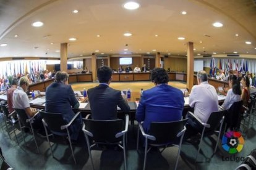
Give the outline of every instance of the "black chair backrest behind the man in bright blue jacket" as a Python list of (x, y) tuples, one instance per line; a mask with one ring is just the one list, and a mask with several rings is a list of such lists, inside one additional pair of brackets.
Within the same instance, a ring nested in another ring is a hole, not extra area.
[(177, 134), (184, 129), (187, 119), (169, 122), (151, 122), (148, 134), (155, 136), (150, 144), (166, 144), (177, 139)]

